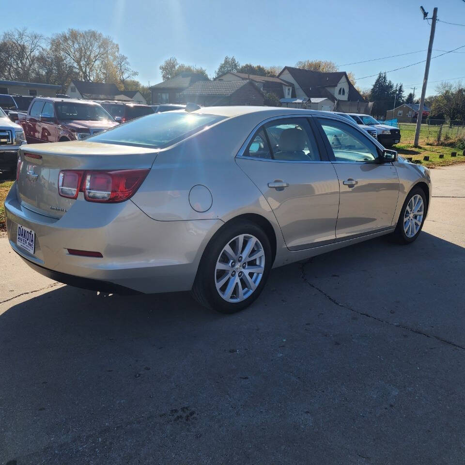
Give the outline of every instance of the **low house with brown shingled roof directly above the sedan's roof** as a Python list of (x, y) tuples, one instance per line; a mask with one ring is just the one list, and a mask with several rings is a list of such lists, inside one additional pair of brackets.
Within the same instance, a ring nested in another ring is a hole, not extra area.
[(250, 80), (197, 81), (179, 95), (180, 103), (205, 107), (225, 105), (263, 105), (263, 92)]

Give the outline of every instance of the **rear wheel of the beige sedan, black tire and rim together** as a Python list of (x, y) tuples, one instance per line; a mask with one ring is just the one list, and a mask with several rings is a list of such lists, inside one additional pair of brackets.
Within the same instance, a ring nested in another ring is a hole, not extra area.
[(225, 225), (203, 252), (192, 294), (221, 313), (243, 310), (261, 294), (271, 262), (270, 241), (262, 228), (248, 220)]

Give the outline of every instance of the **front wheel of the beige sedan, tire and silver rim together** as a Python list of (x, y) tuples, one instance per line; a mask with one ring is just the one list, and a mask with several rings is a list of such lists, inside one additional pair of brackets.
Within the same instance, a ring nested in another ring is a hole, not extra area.
[(393, 237), (399, 244), (415, 241), (426, 218), (426, 195), (420, 187), (414, 187), (403, 202)]

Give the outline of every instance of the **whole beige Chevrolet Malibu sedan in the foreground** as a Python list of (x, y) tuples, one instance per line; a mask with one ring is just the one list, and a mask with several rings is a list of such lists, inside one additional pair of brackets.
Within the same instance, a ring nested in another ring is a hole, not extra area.
[(11, 247), (39, 273), (105, 292), (192, 290), (232, 313), (272, 267), (392, 234), (417, 239), (429, 171), (312, 110), (207, 107), (20, 149)]

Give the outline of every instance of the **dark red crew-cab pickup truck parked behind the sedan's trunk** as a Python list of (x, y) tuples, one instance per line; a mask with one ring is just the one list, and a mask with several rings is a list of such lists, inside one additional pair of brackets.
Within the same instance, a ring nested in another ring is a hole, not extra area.
[(30, 144), (84, 139), (118, 124), (98, 103), (52, 97), (34, 98), (18, 123)]

